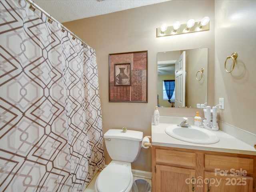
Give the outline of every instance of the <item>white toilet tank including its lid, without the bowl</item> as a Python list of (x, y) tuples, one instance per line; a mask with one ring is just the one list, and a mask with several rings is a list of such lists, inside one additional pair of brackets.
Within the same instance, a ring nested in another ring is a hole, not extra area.
[(134, 162), (139, 154), (143, 132), (110, 129), (104, 134), (106, 149), (112, 160)]

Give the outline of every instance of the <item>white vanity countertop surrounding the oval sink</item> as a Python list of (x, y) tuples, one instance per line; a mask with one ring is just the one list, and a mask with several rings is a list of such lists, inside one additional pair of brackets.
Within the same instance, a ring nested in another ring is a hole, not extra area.
[(153, 146), (166, 146), (175, 148), (187, 148), (216, 152), (256, 155), (256, 149), (253, 146), (250, 146), (249, 144), (221, 130), (212, 131), (220, 138), (219, 142), (214, 144), (194, 144), (172, 138), (171, 136), (166, 134), (165, 129), (170, 125), (174, 124), (161, 123), (157, 126), (152, 124), (151, 131)]

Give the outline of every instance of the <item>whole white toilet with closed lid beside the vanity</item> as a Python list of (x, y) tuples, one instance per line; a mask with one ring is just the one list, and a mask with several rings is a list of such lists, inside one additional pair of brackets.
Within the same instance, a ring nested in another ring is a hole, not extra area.
[(130, 192), (133, 184), (131, 162), (139, 154), (143, 132), (110, 129), (104, 134), (106, 149), (112, 161), (98, 175), (96, 192)]

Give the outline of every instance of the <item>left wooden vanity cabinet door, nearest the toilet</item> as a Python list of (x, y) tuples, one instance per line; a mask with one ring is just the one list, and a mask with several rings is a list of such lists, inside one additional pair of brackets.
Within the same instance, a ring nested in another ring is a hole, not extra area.
[(195, 170), (156, 164), (156, 192), (192, 192)]

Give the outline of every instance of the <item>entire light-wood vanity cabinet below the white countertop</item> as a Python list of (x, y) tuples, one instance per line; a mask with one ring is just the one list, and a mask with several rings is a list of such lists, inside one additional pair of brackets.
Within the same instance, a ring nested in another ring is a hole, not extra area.
[(256, 192), (256, 156), (152, 146), (152, 192)]

